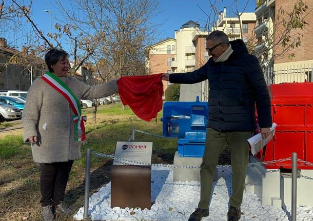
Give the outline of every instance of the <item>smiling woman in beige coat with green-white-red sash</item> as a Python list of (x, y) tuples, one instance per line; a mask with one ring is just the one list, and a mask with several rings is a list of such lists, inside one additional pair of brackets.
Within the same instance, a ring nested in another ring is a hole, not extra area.
[[(45, 55), (49, 72), (31, 85), (23, 112), (24, 141), (40, 164), (42, 216), (54, 220), (55, 213), (68, 214), (64, 193), (73, 160), (81, 157), (85, 140), (80, 100), (110, 96), (118, 92), (116, 81), (89, 86), (68, 76), (68, 53), (50, 49)], [(75, 121), (74, 121), (75, 120)]]

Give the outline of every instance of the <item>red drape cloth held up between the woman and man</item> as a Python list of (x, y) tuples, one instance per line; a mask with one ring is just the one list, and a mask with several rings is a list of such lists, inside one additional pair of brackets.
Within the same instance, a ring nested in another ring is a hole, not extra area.
[(124, 105), (141, 119), (150, 121), (162, 110), (162, 74), (125, 76), (118, 81), (119, 94)]

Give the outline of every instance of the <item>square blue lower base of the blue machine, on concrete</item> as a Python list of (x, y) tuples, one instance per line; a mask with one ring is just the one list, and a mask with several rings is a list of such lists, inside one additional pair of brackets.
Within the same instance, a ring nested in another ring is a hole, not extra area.
[(202, 157), (204, 154), (205, 140), (190, 141), (190, 139), (178, 140), (178, 153), (181, 156)]

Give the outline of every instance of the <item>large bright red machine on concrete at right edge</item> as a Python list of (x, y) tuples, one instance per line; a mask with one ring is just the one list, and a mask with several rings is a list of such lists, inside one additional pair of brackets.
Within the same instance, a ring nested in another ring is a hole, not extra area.
[[(256, 157), (261, 161), (291, 157), (313, 163), (313, 83), (284, 83), (269, 86), (275, 136)], [(265, 165), (267, 169), (291, 168), (291, 160)], [(298, 162), (299, 169), (313, 169)]]

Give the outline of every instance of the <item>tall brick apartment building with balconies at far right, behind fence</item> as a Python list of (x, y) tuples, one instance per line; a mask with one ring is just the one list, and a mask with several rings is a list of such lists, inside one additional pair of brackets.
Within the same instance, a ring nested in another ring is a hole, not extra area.
[[(313, 68), (313, 53), (311, 48), (313, 46), (313, 16), (311, 10), (313, 9), (313, 1), (303, 0), (308, 6), (305, 13), (310, 12), (305, 16), (305, 25), (303, 29), (294, 29), (290, 36), (297, 36), (297, 33), (303, 35), (301, 37), (301, 45), (295, 48), (289, 48), (287, 52), (283, 53), (284, 47), (278, 44), (282, 37), (283, 24), (285, 19), (288, 21), (289, 15), (298, 0), (258, 0), (255, 13), (257, 15), (257, 27), (255, 29), (258, 37), (258, 44), (256, 46), (256, 55), (264, 68), (263, 72), (267, 84), (279, 84), (283, 82), (313, 82), (312, 68)], [(280, 11), (285, 13), (281, 14)], [(290, 54), (295, 57), (290, 57)]]

